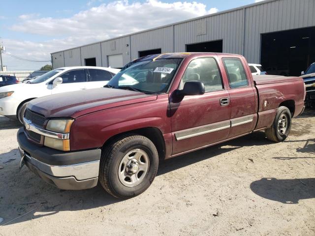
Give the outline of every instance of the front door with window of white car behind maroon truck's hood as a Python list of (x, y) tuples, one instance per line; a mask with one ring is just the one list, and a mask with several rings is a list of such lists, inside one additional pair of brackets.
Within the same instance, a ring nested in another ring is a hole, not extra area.
[(52, 85), (52, 94), (87, 89), (87, 75), (85, 69), (69, 70), (59, 77), (63, 79), (63, 83), (56, 86)]

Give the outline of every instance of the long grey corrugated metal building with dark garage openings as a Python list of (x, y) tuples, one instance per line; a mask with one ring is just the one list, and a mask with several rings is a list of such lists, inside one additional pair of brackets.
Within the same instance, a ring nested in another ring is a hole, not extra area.
[(242, 54), (274, 74), (297, 75), (315, 61), (315, 0), (265, 0), (55, 52), (51, 57), (53, 68), (120, 68), (141, 56), (170, 52)]

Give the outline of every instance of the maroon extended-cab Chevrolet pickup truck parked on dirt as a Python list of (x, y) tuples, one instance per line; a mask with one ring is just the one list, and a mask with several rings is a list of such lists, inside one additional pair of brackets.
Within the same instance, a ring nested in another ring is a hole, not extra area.
[(304, 98), (302, 78), (253, 79), (240, 55), (146, 56), (104, 88), (29, 102), (17, 134), (21, 167), (61, 189), (99, 181), (129, 198), (150, 186), (160, 160), (257, 130), (284, 141)]

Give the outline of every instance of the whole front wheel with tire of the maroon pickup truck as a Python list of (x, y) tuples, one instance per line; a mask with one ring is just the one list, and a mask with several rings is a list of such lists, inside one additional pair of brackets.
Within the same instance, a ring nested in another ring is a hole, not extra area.
[(102, 150), (99, 181), (116, 198), (143, 193), (157, 175), (158, 151), (147, 137), (121, 136)]

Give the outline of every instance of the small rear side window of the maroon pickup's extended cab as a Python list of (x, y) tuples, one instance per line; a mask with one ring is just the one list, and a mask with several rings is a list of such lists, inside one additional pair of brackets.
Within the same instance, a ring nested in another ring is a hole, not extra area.
[(223, 58), (222, 60), (231, 89), (247, 87), (248, 79), (242, 61), (238, 58)]

